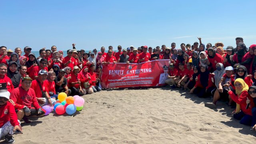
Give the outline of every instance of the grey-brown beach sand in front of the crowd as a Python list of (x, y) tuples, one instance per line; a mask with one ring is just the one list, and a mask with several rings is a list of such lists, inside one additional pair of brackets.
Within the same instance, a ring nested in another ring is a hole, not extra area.
[[(204, 106), (184, 90), (119, 88), (84, 95), (84, 109), (72, 117), (57, 115), (22, 122), (15, 144), (255, 144), (256, 132), (231, 118), (218, 102)], [(0, 144), (3, 140), (0, 141)]]

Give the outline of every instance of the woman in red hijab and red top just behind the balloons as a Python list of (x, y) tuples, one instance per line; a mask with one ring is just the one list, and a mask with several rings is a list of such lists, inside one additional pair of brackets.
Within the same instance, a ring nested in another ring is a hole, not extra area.
[[(55, 82), (54, 82), (55, 77), (56, 77), (55, 72), (52, 72), (52, 71), (48, 72), (48, 76), (47, 76), (47, 80), (46, 80), (46, 86), (48, 87), (50, 96), (54, 96), (54, 94), (56, 94)], [(56, 98), (56, 97), (52, 97), (52, 98)]]

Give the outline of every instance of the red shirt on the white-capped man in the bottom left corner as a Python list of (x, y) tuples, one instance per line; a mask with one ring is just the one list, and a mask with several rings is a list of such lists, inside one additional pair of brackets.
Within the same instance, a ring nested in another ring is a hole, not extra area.
[(7, 101), (6, 104), (0, 107), (0, 128), (9, 120), (12, 126), (20, 125), (14, 106)]

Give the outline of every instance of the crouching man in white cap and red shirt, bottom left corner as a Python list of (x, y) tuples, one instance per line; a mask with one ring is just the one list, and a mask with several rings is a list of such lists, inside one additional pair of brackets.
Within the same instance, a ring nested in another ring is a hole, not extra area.
[(5, 136), (6, 142), (13, 144), (15, 140), (12, 134), (16, 130), (22, 132), (22, 128), (15, 113), (14, 106), (8, 102), (9, 98), (10, 92), (0, 92), (0, 138)]

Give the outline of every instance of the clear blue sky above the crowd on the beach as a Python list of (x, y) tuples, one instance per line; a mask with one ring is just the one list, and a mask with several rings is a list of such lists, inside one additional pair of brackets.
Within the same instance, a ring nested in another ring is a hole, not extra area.
[(171, 47), (176, 43), (256, 44), (255, 0), (1, 0), (0, 45), (32, 51), (57, 46)]

